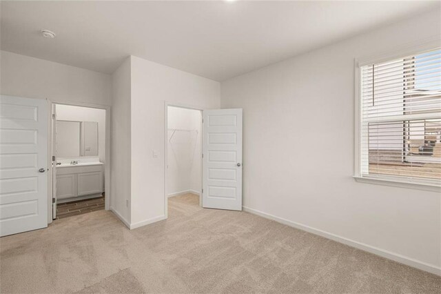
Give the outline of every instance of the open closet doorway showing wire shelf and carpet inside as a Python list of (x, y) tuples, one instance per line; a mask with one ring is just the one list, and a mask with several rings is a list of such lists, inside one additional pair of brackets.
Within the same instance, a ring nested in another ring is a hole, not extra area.
[(201, 206), (202, 111), (166, 104), (166, 212), (174, 202)]

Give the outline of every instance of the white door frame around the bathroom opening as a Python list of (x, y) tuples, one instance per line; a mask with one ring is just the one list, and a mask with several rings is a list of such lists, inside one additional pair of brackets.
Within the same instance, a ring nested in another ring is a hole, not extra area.
[[(49, 102), (49, 119), (52, 119), (52, 105), (53, 104), (62, 104), (67, 106), (82, 106), (82, 107), (88, 107), (88, 108), (98, 108), (105, 110), (105, 164), (104, 164), (104, 191), (105, 191), (105, 198), (104, 198), (104, 208), (105, 210), (110, 210), (110, 199), (112, 197), (111, 190), (110, 190), (110, 164), (111, 163), (111, 146), (110, 146), (110, 134), (111, 134), (111, 124), (110, 124), (110, 110), (111, 106), (107, 105), (101, 105), (101, 104), (89, 104), (89, 103), (83, 103), (83, 102), (74, 102), (74, 101), (56, 101), (56, 100), (48, 100)], [(53, 145), (54, 137), (52, 136), (52, 126), (50, 126), (50, 141), (48, 144)], [(52, 164), (52, 155), (54, 153), (54, 150), (50, 148), (50, 158), (51, 164)], [(51, 166), (51, 165), (49, 165)], [(52, 168), (50, 168), (50, 186), (52, 186)], [(51, 189), (52, 190), (52, 189)], [(52, 193), (48, 193), (48, 205), (50, 208), (50, 213), (48, 213), (48, 224), (52, 222)]]

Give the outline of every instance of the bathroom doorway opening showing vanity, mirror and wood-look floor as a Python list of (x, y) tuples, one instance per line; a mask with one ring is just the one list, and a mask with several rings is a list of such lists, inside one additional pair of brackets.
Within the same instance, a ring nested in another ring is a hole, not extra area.
[(52, 104), (52, 219), (108, 208), (107, 112)]

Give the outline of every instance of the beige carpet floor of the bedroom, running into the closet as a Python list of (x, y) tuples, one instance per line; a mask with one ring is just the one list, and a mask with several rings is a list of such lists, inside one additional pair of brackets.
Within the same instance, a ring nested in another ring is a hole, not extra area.
[(441, 293), (436, 275), (194, 195), (132, 231), (100, 210), (0, 246), (1, 293)]

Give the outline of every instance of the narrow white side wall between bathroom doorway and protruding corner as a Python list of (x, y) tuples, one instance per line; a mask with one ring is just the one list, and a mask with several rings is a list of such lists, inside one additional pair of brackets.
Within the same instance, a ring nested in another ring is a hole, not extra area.
[(112, 74), (110, 208), (130, 226), (130, 58)]

